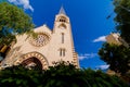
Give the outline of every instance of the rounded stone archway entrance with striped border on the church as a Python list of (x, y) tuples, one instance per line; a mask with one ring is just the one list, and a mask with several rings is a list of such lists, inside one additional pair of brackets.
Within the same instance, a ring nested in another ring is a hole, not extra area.
[(39, 52), (26, 53), (15, 64), (23, 64), (26, 67), (38, 67), (40, 70), (47, 70), (49, 66), (47, 59)]

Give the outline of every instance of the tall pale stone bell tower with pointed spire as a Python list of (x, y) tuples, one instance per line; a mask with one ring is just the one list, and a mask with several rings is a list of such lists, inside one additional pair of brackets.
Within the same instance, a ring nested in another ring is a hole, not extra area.
[(55, 16), (52, 38), (53, 44), (51, 45), (53, 49), (51, 50), (53, 50), (52, 52), (55, 52), (55, 54), (52, 54), (56, 57), (57, 61), (69, 61), (79, 67), (78, 55), (74, 48), (70, 21), (63, 7)]

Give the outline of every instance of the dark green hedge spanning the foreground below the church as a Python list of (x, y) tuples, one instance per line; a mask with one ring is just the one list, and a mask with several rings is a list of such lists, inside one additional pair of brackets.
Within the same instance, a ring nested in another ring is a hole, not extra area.
[(56, 63), (46, 71), (13, 66), (0, 71), (0, 87), (129, 87), (117, 76), (101, 71)]

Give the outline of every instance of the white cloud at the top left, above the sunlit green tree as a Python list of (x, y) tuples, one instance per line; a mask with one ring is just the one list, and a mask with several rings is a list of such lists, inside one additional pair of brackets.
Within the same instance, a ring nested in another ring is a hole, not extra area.
[(14, 3), (16, 5), (23, 5), (25, 10), (29, 9), (34, 12), (34, 8), (30, 5), (29, 0), (9, 0), (9, 2)]

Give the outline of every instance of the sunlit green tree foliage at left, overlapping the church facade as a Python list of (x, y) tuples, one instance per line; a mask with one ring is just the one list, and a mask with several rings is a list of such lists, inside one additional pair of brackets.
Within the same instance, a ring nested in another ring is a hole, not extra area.
[(0, 2), (0, 44), (9, 45), (15, 39), (14, 35), (31, 33), (32, 28), (31, 17), (22, 9), (9, 2)]

